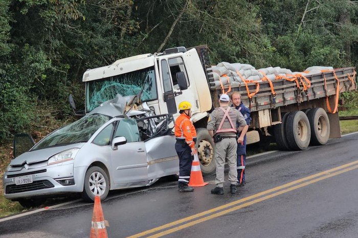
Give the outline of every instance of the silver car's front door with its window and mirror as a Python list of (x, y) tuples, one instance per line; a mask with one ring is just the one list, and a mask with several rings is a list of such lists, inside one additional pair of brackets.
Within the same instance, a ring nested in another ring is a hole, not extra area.
[(135, 119), (119, 121), (115, 137), (124, 136), (126, 144), (111, 151), (111, 164), (115, 184), (145, 182), (148, 179), (148, 163), (145, 144), (140, 139)]

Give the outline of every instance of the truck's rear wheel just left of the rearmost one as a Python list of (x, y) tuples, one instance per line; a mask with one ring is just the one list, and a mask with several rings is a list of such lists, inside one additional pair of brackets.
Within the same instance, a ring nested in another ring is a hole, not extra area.
[(303, 111), (289, 112), (284, 129), (289, 149), (307, 149), (311, 138), (311, 130), (307, 115)]

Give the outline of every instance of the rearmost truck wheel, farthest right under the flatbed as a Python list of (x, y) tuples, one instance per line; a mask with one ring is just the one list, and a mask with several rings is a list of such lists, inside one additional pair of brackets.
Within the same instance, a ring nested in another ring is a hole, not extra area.
[(327, 144), (329, 138), (329, 119), (323, 108), (317, 107), (307, 113), (309, 125), (311, 127), (312, 146), (322, 146)]

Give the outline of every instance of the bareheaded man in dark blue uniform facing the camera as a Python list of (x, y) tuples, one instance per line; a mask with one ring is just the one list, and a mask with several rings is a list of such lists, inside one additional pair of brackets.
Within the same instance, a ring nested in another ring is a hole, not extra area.
[(237, 177), (238, 177), (238, 185), (244, 186), (245, 185), (245, 164), (246, 164), (246, 132), (249, 129), (249, 125), (251, 122), (250, 117), (250, 109), (245, 107), (241, 102), (241, 95), (239, 92), (233, 92), (231, 94), (231, 101), (233, 102), (233, 106), (237, 109), (246, 121), (246, 126), (239, 127), (238, 132), (238, 140), (237, 140)]

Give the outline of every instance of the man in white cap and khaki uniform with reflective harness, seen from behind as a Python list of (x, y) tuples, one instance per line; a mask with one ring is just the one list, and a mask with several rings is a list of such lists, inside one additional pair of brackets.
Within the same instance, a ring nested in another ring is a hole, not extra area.
[[(242, 114), (229, 107), (229, 96), (222, 94), (219, 99), (219, 108), (210, 114), (207, 129), (214, 137), (215, 163), (216, 163), (216, 187), (211, 190), (212, 194), (223, 194), (224, 166), (225, 160), (229, 165), (230, 193), (236, 193), (237, 171), (236, 171), (236, 133), (238, 123), (241, 127), (246, 126)], [(214, 133), (215, 132), (215, 133)]]

